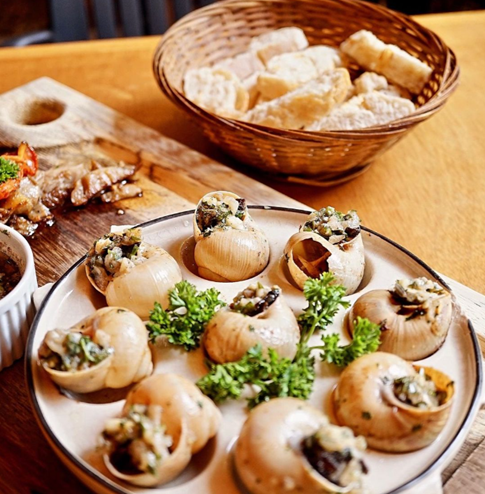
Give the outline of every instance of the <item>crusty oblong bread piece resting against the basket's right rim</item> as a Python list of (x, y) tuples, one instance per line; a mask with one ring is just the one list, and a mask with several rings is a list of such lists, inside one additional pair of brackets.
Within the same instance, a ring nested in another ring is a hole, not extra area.
[(364, 69), (377, 72), (413, 94), (419, 94), (433, 69), (395, 45), (388, 45), (366, 30), (347, 38), (340, 49)]

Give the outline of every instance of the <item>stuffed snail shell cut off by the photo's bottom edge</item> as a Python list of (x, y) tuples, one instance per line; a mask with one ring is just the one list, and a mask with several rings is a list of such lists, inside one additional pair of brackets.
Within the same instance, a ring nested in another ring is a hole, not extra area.
[(366, 492), (366, 442), (332, 425), (320, 410), (295, 398), (259, 405), (235, 449), (239, 477), (252, 494)]

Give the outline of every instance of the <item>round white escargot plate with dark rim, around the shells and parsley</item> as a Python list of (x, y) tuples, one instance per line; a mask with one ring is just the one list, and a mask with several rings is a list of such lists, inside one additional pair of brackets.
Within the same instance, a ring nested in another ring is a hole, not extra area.
[[(298, 229), (308, 211), (255, 206), (251, 216), (267, 234), (271, 258), (268, 266), (251, 281), (217, 283), (200, 278), (187, 259), (187, 239), (192, 232), (193, 212), (178, 213), (143, 225), (147, 242), (164, 248), (178, 262), (184, 279), (199, 289), (216, 287), (230, 301), (248, 283), (260, 281), (278, 285), (289, 306), (299, 313), (306, 305), (302, 292), (289, 281), (282, 262), (287, 240)], [(347, 297), (354, 302), (360, 295), (375, 289), (389, 289), (396, 279), (426, 276), (443, 285), (443, 281), (412, 254), (391, 241), (363, 230), (366, 267), (357, 291)], [(192, 247), (193, 248), (193, 247)], [(190, 250), (190, 246), (189, 246)], [(215, 439), (197, 453), (182, 472), (159, 488), (130, 486), (113, 476), (102, 455), (96, 451), (97, 436), (110, 417), (119, 416), (128, 389), (104, 390), (94, 395), (66, 396), (48, 378), (39, 365), (37, 351), (47, 331), (67, 328), (87, 314), (105, 305), (104, 297), (91, 290), (84, 276), (83, 259), (75, 264), (55, 285), (44, 300), (33, 323), (27, 348), (27, 378), (34, 412), (44, 434), (62, 461), (91, 489), (102, 493), (145, 492), (150, 494), (248, 494), (234, 473), (234, 445), (247, 418), (244, 400), (220, 406), (222, 422)], [(412, 453), (389, 454), (367, 450), (368, 489), (374, 494), (434, 494), (430, 487), (463, 443), (479, 408), (482, 382), (481, 356), (474, 331), (459, 306), (443, 346), (419, 366), (444, 371), (455, 382), (455, 404), (449, 420), (437, 439), (428, 447)], [(348, 311), (348, 309), (347, 309)], [(327, 331), (340, 332), (348, 341), (343, 327), (346, 310), (341, 310)], [(318, 335), (315, 336), (318, 341)], [(316, 343), (316, 341), (315, 341)], [(153, 352), (154, 373), (175, 373), (196, 381), (205, 374), (202, 350), (187, 353), (170, 346), (157, 345)], [(340, 371), (327, 365), (317, 366), (314, 392), (309, 403), (326, 413), (332, 422), (331, 393)], [(73, 399), (74, 398), (74, 399)], [(291, 494), (291, 491), (288, 491)], [(439, 492), (439, 491), (436, 491)], [(271, 493), (268, 494), (279, 494)]]

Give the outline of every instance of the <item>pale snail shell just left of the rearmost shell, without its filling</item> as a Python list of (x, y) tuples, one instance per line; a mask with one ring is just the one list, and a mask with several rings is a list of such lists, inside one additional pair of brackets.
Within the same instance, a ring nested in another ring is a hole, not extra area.
[(89, 281), (106, 296), (109, 306), (125, 307), (146, 319), (155, 302), (159, 302), (164, 309), (168, 307), (168, 292), (182, 281), (182, 273), (177, 261), (167, 251), (146, 242), (142, 244), (147, 259), (112, 278), (106, 290), (96, 284), (89, 270), (88, 262), (93, 249), (88, 253), (85, 269)]

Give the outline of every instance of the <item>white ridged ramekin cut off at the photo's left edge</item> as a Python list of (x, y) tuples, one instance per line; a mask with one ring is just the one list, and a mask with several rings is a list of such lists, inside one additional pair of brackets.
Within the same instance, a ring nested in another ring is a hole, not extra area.
[(27, 342), (34, 316), (32, 294), (37, 288), (34, 255), (27, 241), (14, 229), (0, 223), (0, 250), (17, 262), (22, 278), (0, 300), (0, 371), (19, 359)]

